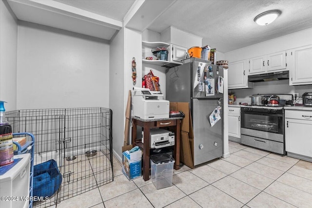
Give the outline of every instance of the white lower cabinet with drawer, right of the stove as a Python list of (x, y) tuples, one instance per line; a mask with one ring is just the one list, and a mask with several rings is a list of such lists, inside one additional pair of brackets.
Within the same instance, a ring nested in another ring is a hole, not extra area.
[(285, 150), (288, 156), (312, 162), (312, 111), (285, 110)]

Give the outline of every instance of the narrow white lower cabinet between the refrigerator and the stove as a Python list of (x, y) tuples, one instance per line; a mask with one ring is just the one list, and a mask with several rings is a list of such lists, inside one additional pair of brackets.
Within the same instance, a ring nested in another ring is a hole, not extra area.
[(229, 106), (229, 140), (241, 142), (240, 140), (240, 107)]

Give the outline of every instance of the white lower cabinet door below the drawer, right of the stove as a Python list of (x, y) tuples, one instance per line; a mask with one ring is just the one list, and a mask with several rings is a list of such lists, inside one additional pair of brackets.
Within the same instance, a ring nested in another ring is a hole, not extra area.
[(312, 157), (312, 121), (285, 119), (285, 150)]

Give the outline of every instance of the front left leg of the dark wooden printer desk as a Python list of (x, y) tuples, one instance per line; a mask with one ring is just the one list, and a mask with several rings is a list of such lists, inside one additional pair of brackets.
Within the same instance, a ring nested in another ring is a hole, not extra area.
[(148, 181), (150, 175), (150, 122), (144, 122), (143, 144), (143, 179)]

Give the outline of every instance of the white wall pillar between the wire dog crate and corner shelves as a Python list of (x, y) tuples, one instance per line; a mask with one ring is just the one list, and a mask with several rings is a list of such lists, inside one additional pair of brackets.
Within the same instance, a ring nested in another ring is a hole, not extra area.
[[(128, 92), (141, 86), (142, 52), (141, 33), (122, 28), (110, 43), (110, 108), (113, 111), (113, 151), (121, 161), (121, 147), (124, 144), (125, 112)], [(132, 58), (137, 62), (137, 82), (132, 81)], [(131, 128), (129, 131), (131, 139)], [(130, 141), (131, 143), (131, 141)]]

